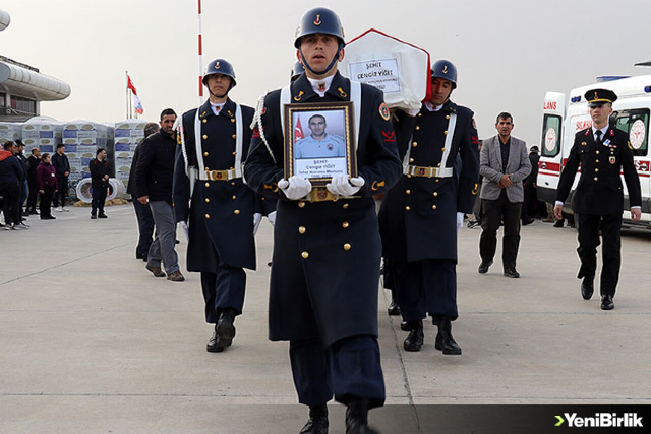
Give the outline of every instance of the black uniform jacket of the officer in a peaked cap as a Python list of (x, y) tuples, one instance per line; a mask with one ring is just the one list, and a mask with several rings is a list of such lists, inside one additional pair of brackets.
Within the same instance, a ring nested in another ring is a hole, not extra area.
[(574, 211), (577, 214), (605, 215), (622, 212), (624, 190), (621, 170), (624, 171), (631, 205), (642, 205), (640, 181), (633, 164), (628, 134), (609, 127), (602, 142), (600, 146), (594, 143), (592, 128), (577, 132), (574, 146), (561, 173), (556, 200), (564, 202), (581, 164), (581, 178), (574, 199)]

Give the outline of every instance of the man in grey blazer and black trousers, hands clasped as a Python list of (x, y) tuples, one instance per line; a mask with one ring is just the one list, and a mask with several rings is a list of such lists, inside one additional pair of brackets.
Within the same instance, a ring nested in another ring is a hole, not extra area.
[(502, 265), (504, 275), (519, 278), (516, 270), (520, 244), (520, 212), (524, 201), (522, 181), (531, 173), (531, 160), (527, 143), (511, 136), (513, 117), (503, 111), (497, 115), (497, 136), (482, 143), (479, 154), (479, 174), (482, 175), (480, 199), (484, 217), (482, 235), (479, 238), (479, 255), (482, 262), (478, 271), (488, 272), (493, 264), (497, 247), (497, 229), (504, 222), (502, 239)]

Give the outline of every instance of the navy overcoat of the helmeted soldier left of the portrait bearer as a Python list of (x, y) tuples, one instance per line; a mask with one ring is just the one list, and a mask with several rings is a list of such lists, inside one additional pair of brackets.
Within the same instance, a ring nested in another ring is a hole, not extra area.
[[(242, 160), (249, 142), (253, 108), (242, 109)], [(195, 114), (183, 113), (182, 122), (189, 166), (197, 167), (195, 152)], [(201, 155), (206, 169), (234, 169), (236, 152), (235, 103), (229, 98), (215, 115), (206, 100), (199, 108), (201, 121)], [(179, 138), (180, 143), (180, 138)], [(217, 273), (219, 258), (230, 267), (255, 269), (253, 208), (255, 194), (242, 181), (195, 181), (191, 205), (189, 180), (180, 146), (174, 171), (174, 211), (177, 222), (188, 222), (187, 270)]]

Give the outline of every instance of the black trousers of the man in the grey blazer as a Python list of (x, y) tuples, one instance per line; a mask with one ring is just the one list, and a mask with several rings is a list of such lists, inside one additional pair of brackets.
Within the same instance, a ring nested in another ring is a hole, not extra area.
[(497, 229), (499, 222), (504, 220), (504, 235), (502, 237), (502, 266), (516, 268), (518, 249), (520, 246), (520, 212), (522, 203), (511, 203), (506, 196), (506, 190), (495, 201), (482, 200), (484, 217), (482, 218), (482, 235), (479, 237), (479, 256), (483, 263), (490, 263), (497, 248)]

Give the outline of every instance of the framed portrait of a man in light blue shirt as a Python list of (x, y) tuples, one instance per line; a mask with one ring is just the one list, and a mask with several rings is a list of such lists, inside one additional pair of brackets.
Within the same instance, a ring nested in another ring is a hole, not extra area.
[(284, 176), (324, 186), (339, 175), (357, 176), (352, 102), (286, 104)]

